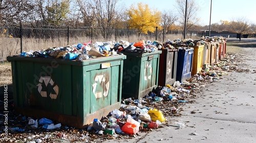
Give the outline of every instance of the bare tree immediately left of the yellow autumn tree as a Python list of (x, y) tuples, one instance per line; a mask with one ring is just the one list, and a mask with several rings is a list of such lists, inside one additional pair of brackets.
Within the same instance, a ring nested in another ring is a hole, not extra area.
[(76, 0), (76, 16), (77, 23), (81, 22), (86, 27), (94, 27), (100, 29), (104, 39), (111, 38), (113, 29), (120, 23), (121, 7), (117, 7), (119, 0)]

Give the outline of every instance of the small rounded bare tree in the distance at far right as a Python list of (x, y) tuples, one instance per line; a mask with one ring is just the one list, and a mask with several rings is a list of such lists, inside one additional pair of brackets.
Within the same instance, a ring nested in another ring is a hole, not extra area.
[(249, 22), (245, 17), (239, 17), (229, 22), (229, 27), (233, 32), (246, 33), (249, 31)]

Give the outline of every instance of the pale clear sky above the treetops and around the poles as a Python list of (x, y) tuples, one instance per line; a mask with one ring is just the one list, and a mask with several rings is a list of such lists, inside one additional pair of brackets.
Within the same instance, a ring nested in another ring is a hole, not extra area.
[[(209, 25), (210, 1), (195, 0), (199, 7), (197, 17), (200, 18), (202, 26)], [(152, 9), (170, 10), (178, 14), (175, 0), (120, 0), (120, 3), (126, 5), (126, 8), (129, 8), (132, 4), (144, 3)], [(256, 24), (256, 0), (212, 0), (211, 23), (220, 23), (220, 20), (236, 20), (238, 17), (246, 17), (250, 23)]]

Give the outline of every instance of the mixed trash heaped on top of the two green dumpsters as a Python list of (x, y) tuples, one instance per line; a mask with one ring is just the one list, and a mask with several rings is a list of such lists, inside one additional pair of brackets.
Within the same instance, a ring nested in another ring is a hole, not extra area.
[(115, 56), (119, 52), (130, 53), (150, 53), (155, 52), (158, 48), (163, 49), (163, 45), (158, 41), (144, 41), (129, 43), (120, 40), (108, 42), (91, 41), (81, 44), (67, 45), (65, 47), (49, 47), (47, 50), (22, 52), (19, 56), (24, 57), (43, 57), (43, 58), (62, 58), (66, 60), (85, 60), (90, 58)]

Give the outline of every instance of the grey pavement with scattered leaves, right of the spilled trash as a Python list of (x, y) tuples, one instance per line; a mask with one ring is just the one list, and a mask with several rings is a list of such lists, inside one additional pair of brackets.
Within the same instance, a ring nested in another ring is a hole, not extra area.
[[(183, 106), (182, 116), (168, 118), (164, 128), (139, 132), (132, 139), (105, 142), (256, 142), (255, 50), (256, 47), (241, 47), (242, 61), (238, 65), (247, 72), (232, 71), (207, 84), (196, 102)], [(185, 127), (172, 126), (175, 121)]]

